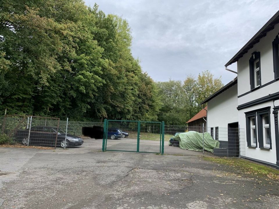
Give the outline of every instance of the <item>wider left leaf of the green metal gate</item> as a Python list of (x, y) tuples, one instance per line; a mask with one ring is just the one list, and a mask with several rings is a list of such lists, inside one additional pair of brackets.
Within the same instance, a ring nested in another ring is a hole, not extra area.
[(137, 121), (107, 121), (105, 150), (137, 152), (138, 138)]

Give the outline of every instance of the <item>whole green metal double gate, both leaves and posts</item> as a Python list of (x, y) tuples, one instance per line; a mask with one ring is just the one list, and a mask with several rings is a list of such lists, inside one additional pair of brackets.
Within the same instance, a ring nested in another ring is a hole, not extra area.
[(105, 119), (102, 150), (164, 154), (164, 122)]

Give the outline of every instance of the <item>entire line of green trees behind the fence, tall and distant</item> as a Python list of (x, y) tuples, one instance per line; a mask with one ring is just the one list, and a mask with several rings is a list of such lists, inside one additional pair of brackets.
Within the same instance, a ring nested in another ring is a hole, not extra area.
[(127, 21), (81, 0), (3, 0), (0, 22), (1, 115), (185, 125), (222, 86), (208, 71), (155, 83), (131, 54)]

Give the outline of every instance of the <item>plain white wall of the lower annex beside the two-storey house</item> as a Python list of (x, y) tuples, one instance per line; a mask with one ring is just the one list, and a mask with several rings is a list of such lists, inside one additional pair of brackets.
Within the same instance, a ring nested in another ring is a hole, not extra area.
[(207, 127), (219, 127), (219, 140), (228, 140), (228, 123), (238, 122), (237, 84), (208, 102)]

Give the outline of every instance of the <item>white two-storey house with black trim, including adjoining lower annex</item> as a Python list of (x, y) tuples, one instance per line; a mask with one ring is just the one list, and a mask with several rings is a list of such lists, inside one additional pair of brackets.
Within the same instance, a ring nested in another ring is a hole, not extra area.
[(238, 121), (239, 127), (245, 129), (245, 149), (240, 152), (241, 156), (277, 168), (279, 168), (278, 23), (279, 11), (225, 65), (227, 69), (230, 64), (237, 62), (237, 85), (221, 92), (214, 99), (208, 98), (203, 102), (208, 102), (208, 126), (224, 127), (227, 123)]

